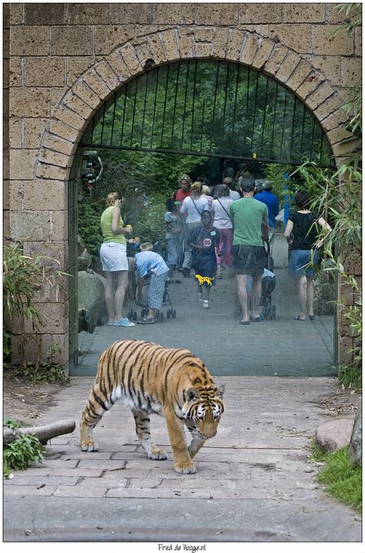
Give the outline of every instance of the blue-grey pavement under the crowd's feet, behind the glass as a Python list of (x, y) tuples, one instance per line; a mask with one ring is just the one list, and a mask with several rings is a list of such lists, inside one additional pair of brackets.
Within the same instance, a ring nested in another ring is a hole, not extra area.
[[(92, 335), (79, 334), (79, 365), (73, 375), (95, 375), (97, 361), (113, 341), (131, 337), (147, 339), (167, 347), (189, 348), (207, 364), (212, 375), (251, 376), (336, 376), (333, 367), (333, 317), (314, 321), (295, 321), (297, 293), (288, 281), (288, 246), (282, 234), (274, 243), (274, 272), (277, 285), (272, 305), (277, 315), (272, 321), (242, 326), (238, 324), (235, 301), (236, 279), (223, 272), (223, 279), (212, 287), (211, 306), (203, 310), (196, 293), (196, 279), (169, 285), (176, 319), (165, 318), (156, 325), (134, 328), (97, 327)], [(125, 312), (140, 308), (130, 303)]]

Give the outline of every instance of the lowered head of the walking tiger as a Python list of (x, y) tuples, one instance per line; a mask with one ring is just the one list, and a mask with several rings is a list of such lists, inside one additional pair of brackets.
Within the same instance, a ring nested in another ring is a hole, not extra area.
[(221, 385), (219, 388), (189, 388), (185, 392), (182, 412), (190, 423), (189, 429), (195, 430), (205, 440), (216, 435), (224, 411), (224, 391), (225, 386)]

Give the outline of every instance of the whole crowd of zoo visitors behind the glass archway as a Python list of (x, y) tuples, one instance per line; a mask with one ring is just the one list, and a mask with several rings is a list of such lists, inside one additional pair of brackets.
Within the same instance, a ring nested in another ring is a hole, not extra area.
[[(106, 275), (108, 325), (135, 326), (129, 318), (122, 317), (129, 271), (135, 272), (136, 301), (140, 301), (143, 287), (148, 284), (146, 315), (138, 324), (156, 323), (167, 280), (177, 271), (187, 278), (194, 270), (198, 301), (209, 309), (209, 292), (216, 280), (222, 279), (223, 268), (227, 268), (228, 277), (236, 277), (240, 324), (262, 320), (259, 306), (263, 277), (274, 277), (268, 269), (279, 200), (272, 193), (269, 180), (258, 183), (244, 168), (234, 177), (230, 169), (225, 165), (222, 182), (215, 187), (207, 186), (203, 178), (191, 182), (188, 175), (181, 176), (179, 188), (166, 200), (163, 257), (153, 251), (151, 243), (131, 238), (133, 227), (124, 225), (121, 216), (123, 198), (117, 192), (109, 194), (101, 218), (104, 242), (100, 248)], [(238, 183), (237, 190), (234, 182)], [(291, 250), (288, 272), (298, 282), (300, 313), (295, 319), (303, 321), (307, 311), (310, 319), (315, 318), (313, 277), (323, 243), (323, 238), (319, 240), (319, 227), (325, 233), (331, 228), (320, 214), (310, 211), (306, 192), (299, 191), (295, 201), (297, 209), (292, 209), (288, 217), (284, 236)], [(127, 258), (127, 243), (140, 252)]]

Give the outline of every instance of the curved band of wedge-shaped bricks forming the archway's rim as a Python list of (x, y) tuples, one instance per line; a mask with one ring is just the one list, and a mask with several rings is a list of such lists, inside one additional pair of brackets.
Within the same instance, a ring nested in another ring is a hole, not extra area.
[(77, 144), (97, 109), (149, 68), (180, 59), (223, 59), (273, 77), (308, 106), (331, 147), (342, 140), (343, 98), (310, 62), (284, 44), (236, 28), (169, 28), (118, 46), (88, 68), (57, 104), (41, 140), (35, 178), (67, 180)]

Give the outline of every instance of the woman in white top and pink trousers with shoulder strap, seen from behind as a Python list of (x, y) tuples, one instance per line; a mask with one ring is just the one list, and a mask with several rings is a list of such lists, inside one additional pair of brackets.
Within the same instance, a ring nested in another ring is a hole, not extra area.
[(230, 217), (230, 205), (234, 200), (230, 198), (230, 188), (227, 185), (218, 185), (215, 192), (216, 200), (213, 201), (212, 205), (214, 227), (218, 229), (221, 236), (218, 252), (216, 252), (216, 278), (221, 279), (222, 264), (224, 263), (225, 266), (232, 267), (233, 224)]

